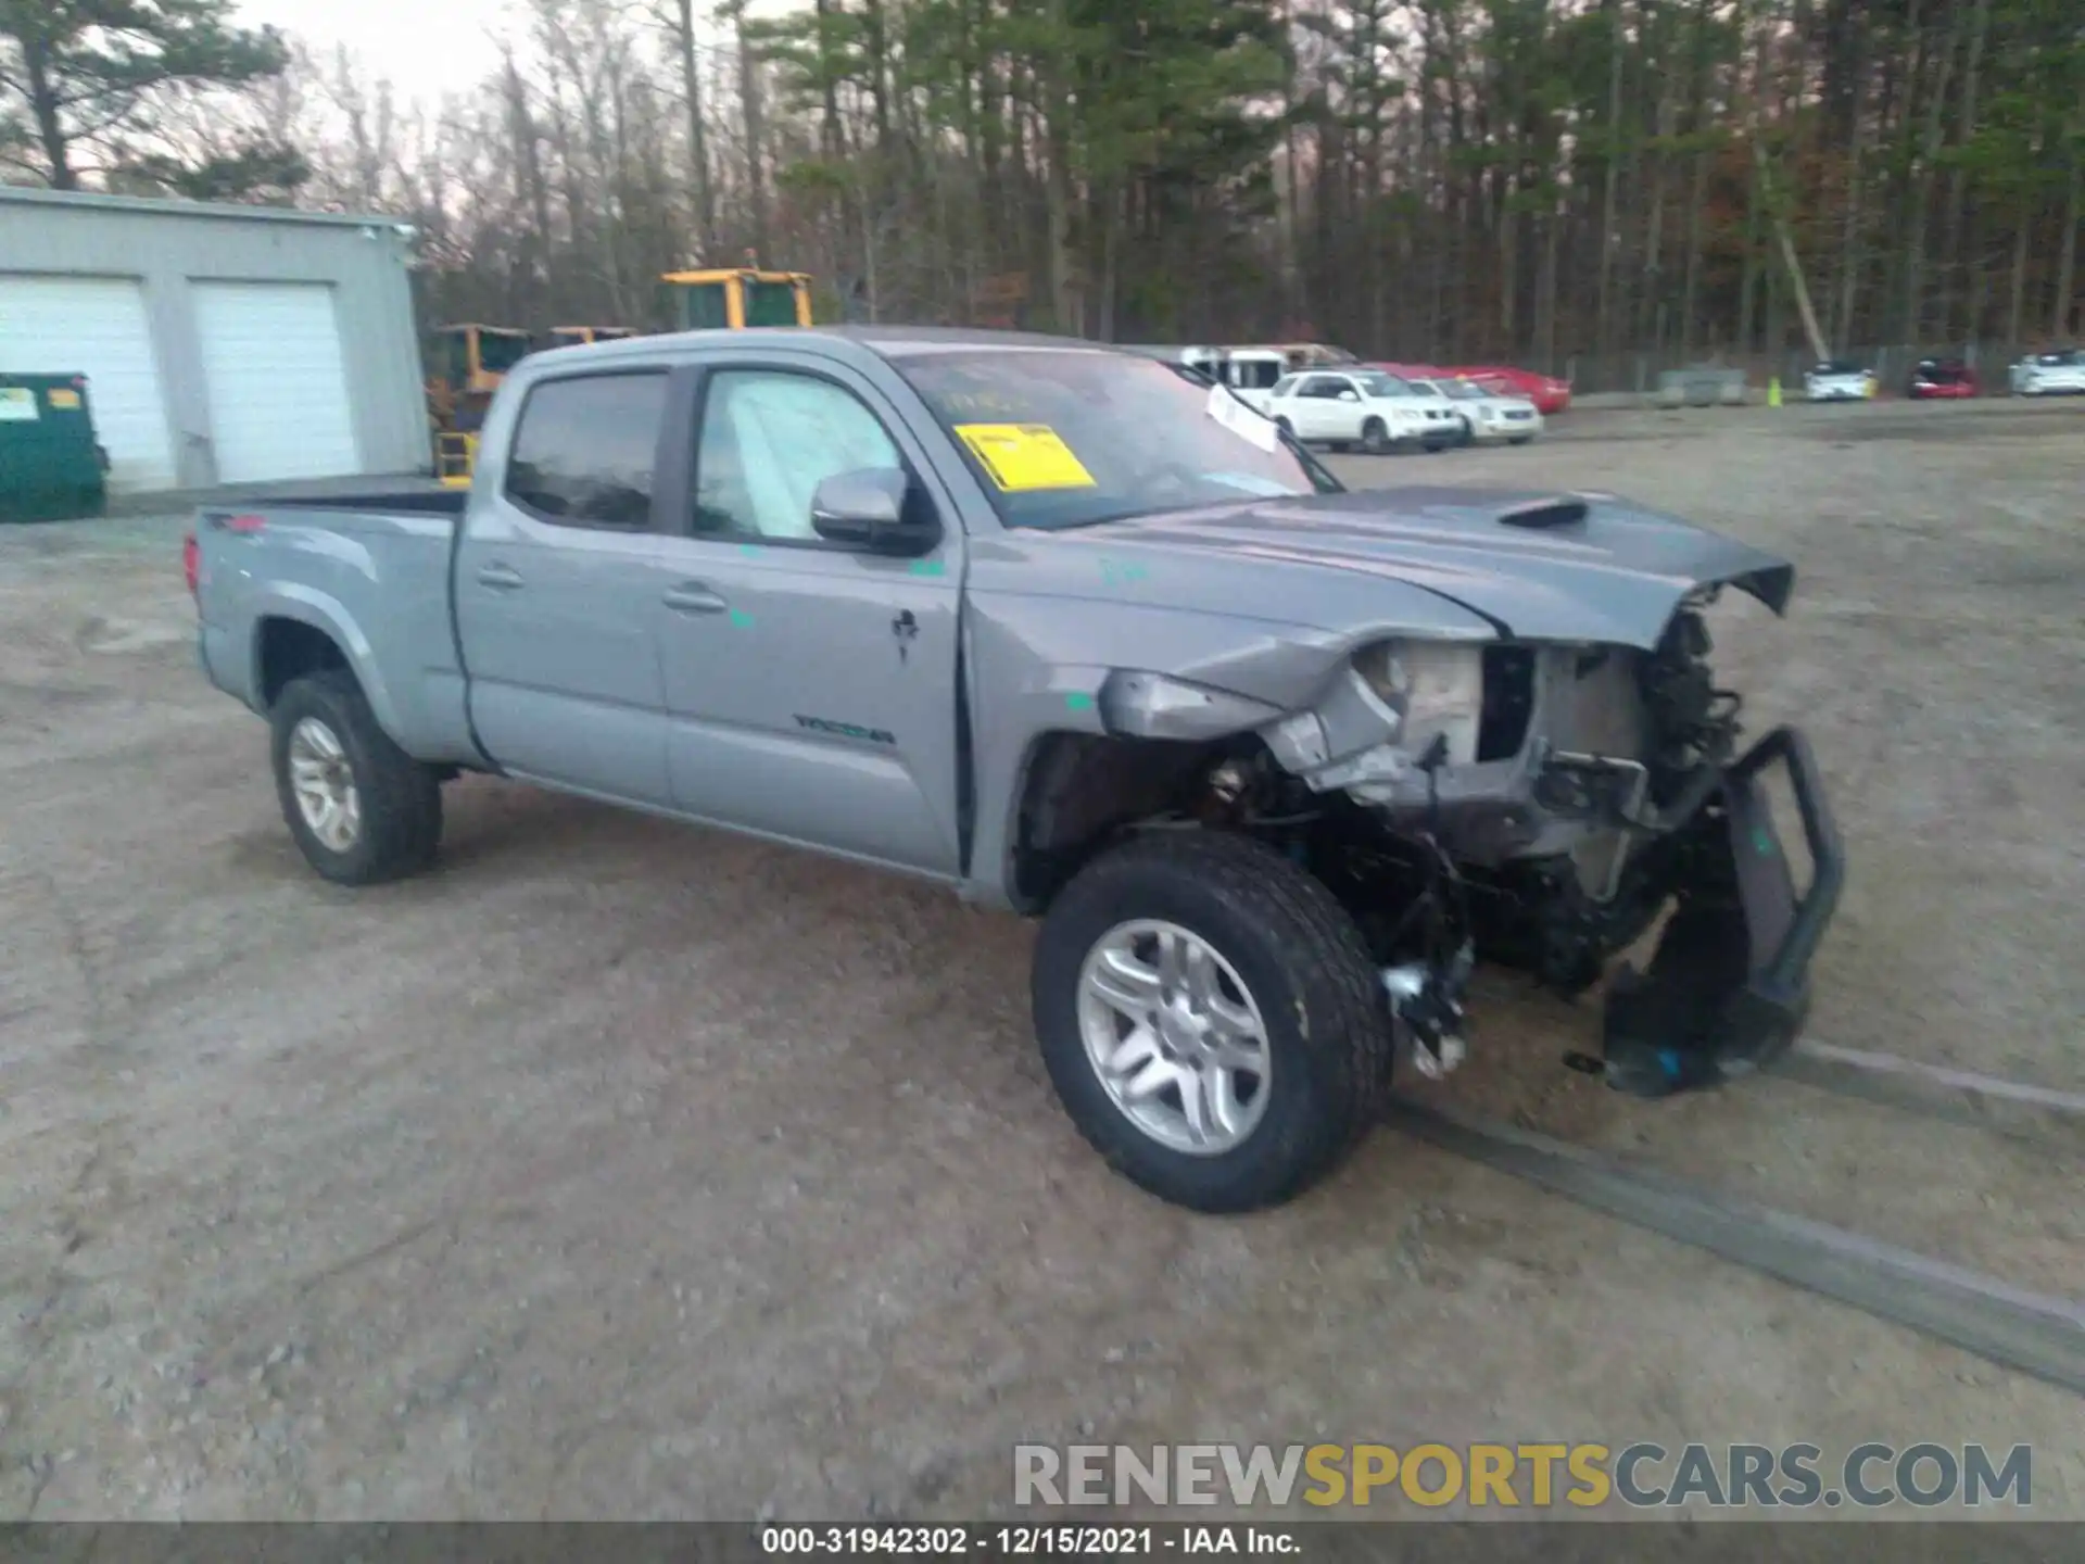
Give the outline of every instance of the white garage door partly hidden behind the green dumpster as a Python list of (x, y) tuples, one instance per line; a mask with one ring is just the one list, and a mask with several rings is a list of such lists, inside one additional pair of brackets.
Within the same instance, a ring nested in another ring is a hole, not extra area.
[(85, 375), (108, 486), (173, 486), (167, 398), (136, 282), (0, 275), (0, 369)]

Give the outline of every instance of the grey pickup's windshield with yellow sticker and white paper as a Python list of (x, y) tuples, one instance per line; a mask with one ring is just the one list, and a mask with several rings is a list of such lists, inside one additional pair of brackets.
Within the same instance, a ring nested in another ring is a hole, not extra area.
[(1084, 528), (1339, 484), (1222, 388), (1078, 348), (894, 357), (1009, 528)]

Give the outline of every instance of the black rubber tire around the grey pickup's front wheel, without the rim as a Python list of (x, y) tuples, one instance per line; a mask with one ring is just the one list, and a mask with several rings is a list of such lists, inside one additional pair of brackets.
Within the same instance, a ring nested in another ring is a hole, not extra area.
[[(1101, 1084), (1078, 1024), (1086, 953), (1132, 918), (1193, 930), (1236, 968), (1270, 1051), (1266, 1116), (1222, 1155), (1151, 1139)], [(1330, 1174), (1376, 1120), (1391, 1020), (1347, 911), (1318, 880), (1247, 836), (1132, 836), (1063, 888), (1036, 938), (1030, 1003), (1042, 1064), (1072, 1122), (1111, 1168), (1195, 1212), (1280, 1205)]]

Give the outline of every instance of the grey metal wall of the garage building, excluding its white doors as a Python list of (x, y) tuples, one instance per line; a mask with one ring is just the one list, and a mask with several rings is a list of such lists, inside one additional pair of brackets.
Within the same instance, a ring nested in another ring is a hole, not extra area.
[(363, 469), (427, 469), (409, 261), (386, 217), (0, 188), (0, 273), (142, 284), (183, 488), (219, 482), (192, 282), (329, 284)]

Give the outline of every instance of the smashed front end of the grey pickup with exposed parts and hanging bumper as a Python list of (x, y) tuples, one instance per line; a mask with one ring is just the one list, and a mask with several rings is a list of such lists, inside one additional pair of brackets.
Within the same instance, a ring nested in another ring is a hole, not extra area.
[[(1585, 505), (1503, 519), (1570, 528)], [(1512, 603), (1466, 586), (1497, 638), (1359, 646), (1307, 707), (1220, 747), (1191, 809), (1274, 840), (1341, 899), (1426, 1076), (1464, 1057), (1478, 959), (1564, 995), (1605, 978), (1601, 1055), (1568, 1061), (1620, 1091), (1655, 1097), (1749, 1072), (1804, 1022), (1845, 872), (1808, 742), (1774, 728), (1747, 747), (1743, 701), (1710, 667), (1706, 613), (1726, 586), (1785, 607), (1793, 571), (1762, 559), (1676, 588), (1670, 573), (1676, 607), (1630, 640), (1557, 634), (1568, 609), (1520, 636)], [(1589, 626), (1612, 630), (1616, 615), (1595, 609)], [(1115, 674), (1101, 711), (1111, 732), (1155, 736), (1236, 726), (1247, 705)], [(1783, 788), (1799, 840), (1774, 807)], [(1639, 943), (1651, 945), (1641, 970), (1616, 961)]]

